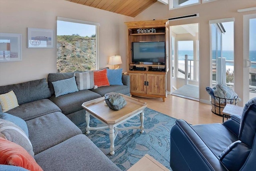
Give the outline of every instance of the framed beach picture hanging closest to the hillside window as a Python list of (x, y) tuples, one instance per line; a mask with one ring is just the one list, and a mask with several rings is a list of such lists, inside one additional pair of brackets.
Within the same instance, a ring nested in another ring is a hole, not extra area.
[(54, 48), (54, 30), (28, 28), (28, 48)]

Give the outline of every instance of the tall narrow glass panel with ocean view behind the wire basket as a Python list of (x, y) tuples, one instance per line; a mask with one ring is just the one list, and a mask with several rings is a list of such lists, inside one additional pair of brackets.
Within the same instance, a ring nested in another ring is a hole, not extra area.
[(234, 88), (234, 18), (211, 20), (212, 87)]

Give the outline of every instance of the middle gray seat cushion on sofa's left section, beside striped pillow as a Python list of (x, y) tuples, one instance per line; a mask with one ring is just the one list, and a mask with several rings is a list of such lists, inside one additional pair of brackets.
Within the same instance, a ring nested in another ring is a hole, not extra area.
[(54, 112), (26, 121), (34, 153), (38, 154), (82, 131), (63, 113)]

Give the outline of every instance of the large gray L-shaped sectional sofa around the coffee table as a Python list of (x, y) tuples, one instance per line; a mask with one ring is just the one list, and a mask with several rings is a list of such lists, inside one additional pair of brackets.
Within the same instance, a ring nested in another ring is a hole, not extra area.
[(0, 94), (13, 90), (19, 104), (6, 113), (26, 121), (34, 159), (44, 171), (118, 171), (120, 169), (76, 125), (85, 122), (85, 110), (81, 106), (85, 101), (112, 91), (130, 95), (130, 78), (122, 75), (124, 85), (55, 97), (52, 82), (71, 78), (73, 74), (48, 74), (48, 83), (44, 78), (1, 86)]

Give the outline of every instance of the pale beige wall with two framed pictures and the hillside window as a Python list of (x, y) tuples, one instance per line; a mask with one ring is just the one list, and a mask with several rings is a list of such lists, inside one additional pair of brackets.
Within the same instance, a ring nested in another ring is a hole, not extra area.
[[(134, 18), (65, 0), (0, 0), (0, 32), (22, 34), (22, 61), (0, 63), (0, 85), (46, 78), (57, 72), (54, 48), (28, 49), (27, 28), (53, 29), (57, 16), (100, 23), (99, 68), (108, 66), (109, 56), (121, 55), (127, 71), (127, 30), (124, 22)], [(109, 66), (112, 67), (112, 66)]]

